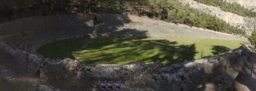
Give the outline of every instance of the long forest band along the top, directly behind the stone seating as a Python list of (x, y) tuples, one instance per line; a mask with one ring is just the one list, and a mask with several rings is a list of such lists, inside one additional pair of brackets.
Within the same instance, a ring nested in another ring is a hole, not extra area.
[(183, 5), (178, 0), (0, 0), (0, 17), (10, 19), (10, 15), (14, 13), (15, 16), (19, 14), (22, 17), (22, 13), (26, 10), (41, 10), (45, 15), (46, 10), (98, 13), (102, 8), (147, 15), (166, 22), (207, 28), (223, 33), (245, 34), (241, 29), (224, 20)]

